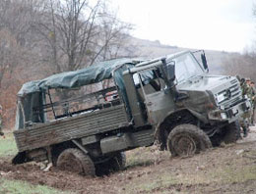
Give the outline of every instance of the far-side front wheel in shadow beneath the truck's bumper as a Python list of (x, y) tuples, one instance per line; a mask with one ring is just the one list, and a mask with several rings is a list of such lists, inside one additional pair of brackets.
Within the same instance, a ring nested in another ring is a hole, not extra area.
[(241, 138), (240, 124), (238, 121), (233, 121), (223, 128), (223, 141), (224, 143), (235, 143), (236, 140)]

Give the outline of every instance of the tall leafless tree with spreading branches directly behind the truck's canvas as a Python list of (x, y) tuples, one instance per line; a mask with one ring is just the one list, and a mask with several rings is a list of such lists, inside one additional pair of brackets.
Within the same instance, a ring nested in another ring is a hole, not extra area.
[(47, 43), (45, 55), (55, 73), (116, 57), (131, 29), (101, 0), (48, 0), (43, 10), (34, 28)]

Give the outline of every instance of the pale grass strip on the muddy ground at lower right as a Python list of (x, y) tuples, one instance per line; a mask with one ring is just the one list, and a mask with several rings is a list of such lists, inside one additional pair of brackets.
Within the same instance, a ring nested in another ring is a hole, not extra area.
[[(128, 193), (179, 193), (176, 188), (179, 185), (193, 185), (196, 189), (197, 185), (222, 185), (232, 183), (243, 183), (248, 180), (256, 180), (256, 166), (248, 166), (243, 168), (222, 167), (215, 170), (197, 171), (192, 173), (182, 173), (175, 175), (169, 172), (163, 172), (152, 178), (144, 177), (140, 181), (134, 181), (127, 185)], [(186, 191), (182, 191), (186, 193)], [(199, 192), (201, 193), (201, 192)]]

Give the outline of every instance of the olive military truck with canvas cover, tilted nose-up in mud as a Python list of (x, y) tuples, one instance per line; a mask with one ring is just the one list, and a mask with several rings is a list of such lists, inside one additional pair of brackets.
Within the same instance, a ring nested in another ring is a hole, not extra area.
[(209, 74), (200, 56), (112, 60), (24, 84), (13, 164), (48, 161), (95, 175), (124, 168), (124, 151), (154, 142), (172, 156), (235, 142), (250, 103), (235, 77)]

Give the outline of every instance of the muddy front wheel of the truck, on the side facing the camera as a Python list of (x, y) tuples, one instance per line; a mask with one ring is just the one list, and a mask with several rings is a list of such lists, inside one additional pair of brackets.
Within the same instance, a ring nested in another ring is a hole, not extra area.
[(167, 148), (172, 156), (193, 156), (211, 147), (207, 134), (193, 124), (180, 124), (168, 134)]

